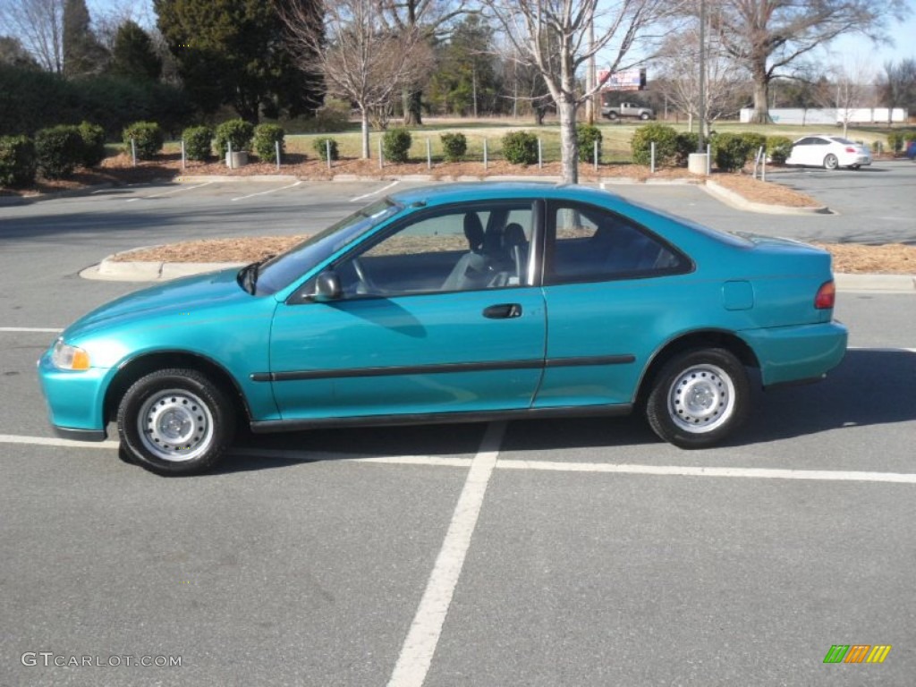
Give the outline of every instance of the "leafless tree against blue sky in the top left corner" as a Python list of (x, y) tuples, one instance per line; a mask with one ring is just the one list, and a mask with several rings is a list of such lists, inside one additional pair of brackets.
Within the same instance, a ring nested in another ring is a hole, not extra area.
[(0, 0), (0, 26), (46, 70), (63, 72), (64, 0)]

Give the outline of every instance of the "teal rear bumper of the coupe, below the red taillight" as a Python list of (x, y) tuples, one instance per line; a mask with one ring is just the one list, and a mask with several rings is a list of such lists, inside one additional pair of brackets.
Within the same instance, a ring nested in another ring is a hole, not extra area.
[(764, 387), (824, 376), (843, 360), (848, 332), (840, 322), (741, 333), (757, 354)]

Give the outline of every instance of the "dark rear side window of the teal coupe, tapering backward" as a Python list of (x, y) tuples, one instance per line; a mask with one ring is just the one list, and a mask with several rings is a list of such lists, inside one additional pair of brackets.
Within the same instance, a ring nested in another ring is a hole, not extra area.
[(689, 261), (630, 220), (594, 207), (552, 208), (548, 284), (656, 277), (686, 271)]

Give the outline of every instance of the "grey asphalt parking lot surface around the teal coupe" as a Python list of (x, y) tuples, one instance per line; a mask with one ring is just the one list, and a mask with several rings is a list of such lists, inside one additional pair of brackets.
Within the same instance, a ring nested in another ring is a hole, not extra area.
[[(139, 245), (308, 234), (389, 183), (0, 207), (0, 685), (912, 684), (914, 294), (841, 293), (844, 363), (756, 393), (712, 450), (638, 419), (313, 431), (245, 435), (217, 474), (163, 479), (114, 442), (52, 438), (38, 355), (142, 286), (83, 268)], [(692, 187), (614, 190), (716, 226), (916, 242), (895, 219), (911, 194), (783, 218)], [(823, 662), (847, 644), (892, 649)]]

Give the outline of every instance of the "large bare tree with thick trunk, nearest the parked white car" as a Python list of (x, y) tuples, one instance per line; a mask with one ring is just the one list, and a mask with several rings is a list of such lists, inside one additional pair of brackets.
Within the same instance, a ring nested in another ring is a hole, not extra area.
[[(693, 0), (698, 2), (698, 0)], [(754, 80), (754, 121), (769, 122), (769, 82), (837, 36), (884, 38), (885, 23), (902, 19), (904, 0), (706, 0), (725, 49)]]

